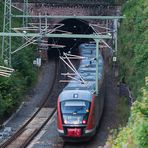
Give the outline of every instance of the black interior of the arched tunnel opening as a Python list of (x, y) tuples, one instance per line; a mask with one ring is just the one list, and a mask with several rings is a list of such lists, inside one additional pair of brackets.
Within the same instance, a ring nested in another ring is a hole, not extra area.
[[(64, 25), (58, 28), (56, 31), (54, 31), (53, 32), (54, 34), (61, 34), (64, 33), (65, 31), (71, 34), (93, 34), (94, 32), (92, 27), (89, 26), (89, 23), (81, 19), (65, 19), (60, 21), (59, 23)], [(61, 32), (61, 30), (64, 32)], [(54, 48), (52, 46), (49, 46), (48, 56), (68, 51), (75, 53), (76, 50), (78, 49), (78, 46), (81, 43), (90, 42), (90, 41), (92, 41), (92, 39), (48, 38), (48, 44), (64, 45), (63, 48)]]

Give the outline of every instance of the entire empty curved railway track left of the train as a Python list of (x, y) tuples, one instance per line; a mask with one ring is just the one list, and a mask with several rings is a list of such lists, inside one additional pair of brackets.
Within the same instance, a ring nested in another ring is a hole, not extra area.
[(43, 102), (35, 111), (33, 116), (7, 141), (0, 145), (0, 148), (25, 148), (34, 137), (42, 130), (47, 122), (54, 115), (56, 108), (47, 107), (52, 90), (54, 89), (54, 82), (58, 77), (58, 62), (55, 60), (54, 63), (54, 79), (51, 82), (52, 87), (50, 88), (48, 95), (43, 98)]

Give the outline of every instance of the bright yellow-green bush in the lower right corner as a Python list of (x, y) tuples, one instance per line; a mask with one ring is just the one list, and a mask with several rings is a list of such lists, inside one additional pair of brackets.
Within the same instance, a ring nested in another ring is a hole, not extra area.
[(148, 89), (143, 89), (142, 101), (136, 101), (132, 106), (131, 116), (126, 127), (120, 129), (119, 134), (108, 140), (114, 148), (148, 147)]

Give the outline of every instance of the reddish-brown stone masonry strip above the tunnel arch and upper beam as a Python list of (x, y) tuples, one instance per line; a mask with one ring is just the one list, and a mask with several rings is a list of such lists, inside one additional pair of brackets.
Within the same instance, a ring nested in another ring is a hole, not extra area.
[(49, 5), (32, 3), (29, 4), (30, 14), (32, 15), (99, 15), (102, 12), (102, 6), (83, 6), (83, 5)]

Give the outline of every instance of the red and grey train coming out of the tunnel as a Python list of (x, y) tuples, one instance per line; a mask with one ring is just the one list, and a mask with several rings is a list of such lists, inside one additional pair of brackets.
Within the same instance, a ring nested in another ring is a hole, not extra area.
[[(70, 82), (57, 103), (57, 130), (65, 141), (90, 139), (96, 132), (104, 104), (104, 61), (99, 54), (99, 95), (96, 95), (96, 45), (81, 44), (78, 73), (86, 83)], [(77, 79), (77, 76), (75, 76)]]

